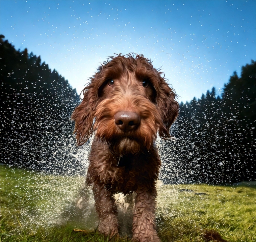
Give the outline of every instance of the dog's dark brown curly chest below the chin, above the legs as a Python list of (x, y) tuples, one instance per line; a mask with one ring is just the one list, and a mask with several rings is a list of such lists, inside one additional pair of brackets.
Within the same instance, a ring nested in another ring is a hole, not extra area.
[(113, 192), (125, 194), (136, 191), (140, 185), (145, 187), (157, 180), (160, 168), (160, 159), (157, 154), (147, 152), (119, 158), (114, 159), (106, 150), (92, 149), (89, 157), (89, 179), (105, 183), (106, 187)]

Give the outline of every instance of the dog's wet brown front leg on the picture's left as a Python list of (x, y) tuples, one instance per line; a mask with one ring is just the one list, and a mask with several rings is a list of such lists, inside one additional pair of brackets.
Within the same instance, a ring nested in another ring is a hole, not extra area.
[(110, 237), (118, 233), (117, 206), (113, 194), (109, 192), (104, 184), (96, 181), (93, 186), (96, 212), (99, 216), (98, 230), (101, 234)]

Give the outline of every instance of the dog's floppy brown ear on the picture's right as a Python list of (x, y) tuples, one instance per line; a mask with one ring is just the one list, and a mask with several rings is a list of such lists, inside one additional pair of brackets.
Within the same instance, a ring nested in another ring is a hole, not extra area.
[(160, 108), (163, 126), (159, 128), (161, 138), (170, 137), (170, 128), (178, 116), (179, 103), (175, 100), (176, 94), (160, 76), (160, 89), (157, 91), (157, 106)]

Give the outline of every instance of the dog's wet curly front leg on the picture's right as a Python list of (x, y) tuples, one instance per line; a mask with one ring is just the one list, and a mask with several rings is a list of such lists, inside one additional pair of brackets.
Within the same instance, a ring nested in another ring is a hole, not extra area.
[(136, 191), (132, 223), (133, 240), (139, 242), (160, 242), (155, 225), (156, 188)]

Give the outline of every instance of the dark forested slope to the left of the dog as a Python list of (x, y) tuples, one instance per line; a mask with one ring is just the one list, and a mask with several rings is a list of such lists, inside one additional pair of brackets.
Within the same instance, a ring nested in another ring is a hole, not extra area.
[(64, 146), (72, 140), (70, 115), (79, 102), (77, 91), (55, 69), (41, 63), (40, 56), (28, 54), (27, 49), (16, 50), (3, 38), (1, 35), (1, 162), (63, 170), (63, 160), (72, 160)]

